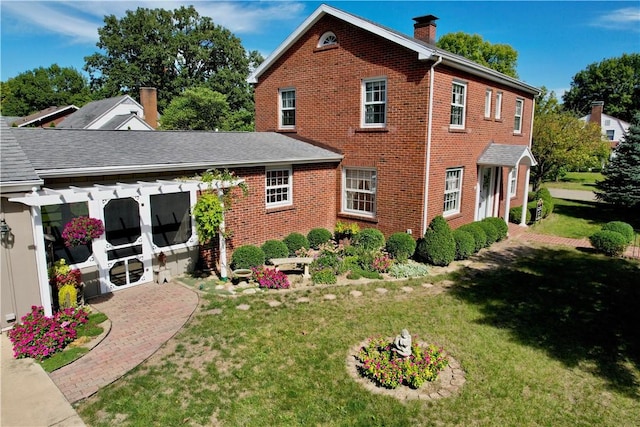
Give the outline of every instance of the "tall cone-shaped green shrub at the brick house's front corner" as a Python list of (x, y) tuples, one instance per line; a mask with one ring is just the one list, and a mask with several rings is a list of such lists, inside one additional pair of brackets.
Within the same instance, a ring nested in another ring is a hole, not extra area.
[(447, 221), (438, 215), (429, 224), (416, 253), (429, 264), (447, 266), (456, 257), (456, 241)]

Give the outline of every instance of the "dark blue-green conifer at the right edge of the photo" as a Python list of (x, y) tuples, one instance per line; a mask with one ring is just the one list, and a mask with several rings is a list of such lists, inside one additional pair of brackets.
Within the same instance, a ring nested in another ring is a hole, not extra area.
[(596, 197), (607, 203), (640, 210), (640, 113), (602, 171), (596, 183)]

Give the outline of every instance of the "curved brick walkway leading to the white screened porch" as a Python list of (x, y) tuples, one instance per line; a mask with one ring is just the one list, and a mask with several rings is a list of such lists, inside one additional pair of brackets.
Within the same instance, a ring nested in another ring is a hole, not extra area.
[(147, 283), (89, 301), (111, 320), (93, 350), (49, 376), (71, 403), (96, 393), (149, 358), (176, 334), (198, 306), (198, 295), (168, 283)]

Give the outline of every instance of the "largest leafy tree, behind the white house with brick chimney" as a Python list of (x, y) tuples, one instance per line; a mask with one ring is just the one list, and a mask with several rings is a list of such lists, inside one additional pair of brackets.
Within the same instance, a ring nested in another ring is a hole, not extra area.
[(231, 111), (253, 111), (246, 78), (262, 56), (247, 53), (239, 38), (193, 6), (138, 8), (121, 19), (105, 16), (104, 22), (97, 43), (104, 53), (85, 57), (84, 67), (103, 96), (137, 98), (140, 87), (155, 87), (163, 112), (185, 89), (205, 86), (224, 94)]

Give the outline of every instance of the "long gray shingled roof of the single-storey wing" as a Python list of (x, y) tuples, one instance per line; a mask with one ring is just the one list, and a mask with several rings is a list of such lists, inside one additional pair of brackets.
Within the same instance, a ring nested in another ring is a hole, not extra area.
[(12, 128), (40, 177), (338, 162), (342, 155), (274, 132)]

